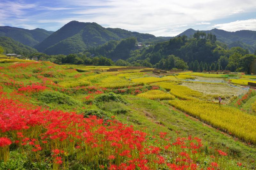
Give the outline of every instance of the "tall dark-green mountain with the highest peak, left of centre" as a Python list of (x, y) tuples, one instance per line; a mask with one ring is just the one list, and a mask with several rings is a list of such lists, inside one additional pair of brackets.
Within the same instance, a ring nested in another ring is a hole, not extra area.
[(120, 28), (104, 28), (95, 22), (70, 21), (52, 33), (35, 48), (49, 55), (71, 54), (97, 47), (110, 40), (136, 37), (139, 42), (166, 41), (152, 34), (131, 32)]

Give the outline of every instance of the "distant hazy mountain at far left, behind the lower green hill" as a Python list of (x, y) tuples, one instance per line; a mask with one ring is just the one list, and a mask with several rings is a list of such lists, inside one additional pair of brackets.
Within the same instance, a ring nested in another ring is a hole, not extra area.
[(33, 47), (46, 37), (51, 35), (53, 31), (36, 28), (33, 30), (16, 28), (11, 26), (0, 26), (0, 37), (10, 37), (15, 41), (19, 41), (24, 45)]

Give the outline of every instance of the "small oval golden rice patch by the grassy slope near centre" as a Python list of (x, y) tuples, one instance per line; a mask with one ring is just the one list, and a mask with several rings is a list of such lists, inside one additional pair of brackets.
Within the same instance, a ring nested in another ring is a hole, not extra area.
[(140, 93), (137, 95), (138, 97), (144, 97), (151, 100), (172, 100), (175, 98), (172, 94), (169, 94), (167, 92), (163, 92), (161, 90), (149, 90), (144, 93)]

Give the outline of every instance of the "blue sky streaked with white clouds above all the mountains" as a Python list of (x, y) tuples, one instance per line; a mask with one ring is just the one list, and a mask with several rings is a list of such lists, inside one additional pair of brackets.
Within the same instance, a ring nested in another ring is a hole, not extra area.
[(0, 26), (56, 31), (72, 20), (156, 36), (188, 28), (256, 31), (255, 0), (0, 0)]

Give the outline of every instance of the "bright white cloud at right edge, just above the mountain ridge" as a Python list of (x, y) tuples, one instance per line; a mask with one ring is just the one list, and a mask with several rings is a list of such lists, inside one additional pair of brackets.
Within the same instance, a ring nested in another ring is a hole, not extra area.
[(226, 30), (226, 31), (238, 31), (238, 30), (256, 31), (256, 19), (237, 20), (234, 22), (229, 22), (224, 24), (216, 24), (212, 27)]

